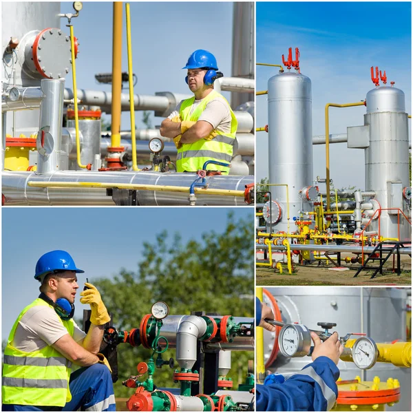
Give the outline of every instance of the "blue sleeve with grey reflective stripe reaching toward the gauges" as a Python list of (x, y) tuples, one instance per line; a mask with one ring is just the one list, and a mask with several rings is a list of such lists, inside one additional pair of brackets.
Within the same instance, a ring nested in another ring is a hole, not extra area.
[(326, 412), (337, 399), (339, 376), (331, 359), (317, 357), (284, 383), (257, 384), (257, 412)]

